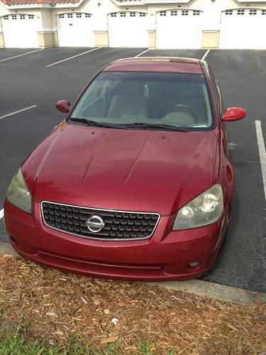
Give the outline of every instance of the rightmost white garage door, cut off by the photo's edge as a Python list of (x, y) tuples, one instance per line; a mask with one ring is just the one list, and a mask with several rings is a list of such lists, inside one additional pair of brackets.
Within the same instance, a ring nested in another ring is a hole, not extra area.
[(235, 9), (221, 13), (219, 48), (266, 49), (266, 10)]

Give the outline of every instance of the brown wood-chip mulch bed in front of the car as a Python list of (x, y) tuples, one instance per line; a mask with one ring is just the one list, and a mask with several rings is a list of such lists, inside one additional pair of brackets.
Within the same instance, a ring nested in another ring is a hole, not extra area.
[(0, 310), (0, 329), (23, 319), (31, 337), (60, 346), (78, 335), (99, 351), (117, 342), (121, 354), (148, 342), (154, 354), (266, 355), (266, 304), (64, 274), (9, 255), (0, 256)]

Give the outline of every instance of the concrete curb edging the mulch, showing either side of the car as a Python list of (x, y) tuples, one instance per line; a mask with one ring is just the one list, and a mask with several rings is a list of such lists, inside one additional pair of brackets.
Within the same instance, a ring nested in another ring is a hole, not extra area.
[[(9, 243), (0, 242), (0, 254), (11, 254), (18, 256)], [(231, 286), (218, 285), (217, 283), (209, 283), (203, 280), (191, 281), (169, 281), (163, 283), (150, 283), (150, 285), (167, 288), (169, 290), (177, 290), (201, 297), (214, 298), (224, 302), (233, 303), (252, 303), (266, 302), (266, 293), (256, 293), (242, 288), (233, 288)]]

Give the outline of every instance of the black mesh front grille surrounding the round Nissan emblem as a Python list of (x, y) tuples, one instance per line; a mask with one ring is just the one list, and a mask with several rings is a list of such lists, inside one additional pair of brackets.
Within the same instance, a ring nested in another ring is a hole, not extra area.
[[(43, 220), (47, 226), (65, 233), (101, 240), (148, 239), (153, 235), (160, 214), (113, 211), (42, 202)], [(86, 224), (92, 216), (101, 217), (104, 228), (89, 231)]]

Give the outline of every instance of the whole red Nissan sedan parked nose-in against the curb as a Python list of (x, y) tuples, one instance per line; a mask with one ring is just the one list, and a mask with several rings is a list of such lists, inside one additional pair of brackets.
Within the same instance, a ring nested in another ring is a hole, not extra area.
[(14, 176), (4, 205), (14, 249), (62, 271), (187, 280), (210, 270), (226, 234), (233, 167), (209, 65), (116, 60)]

